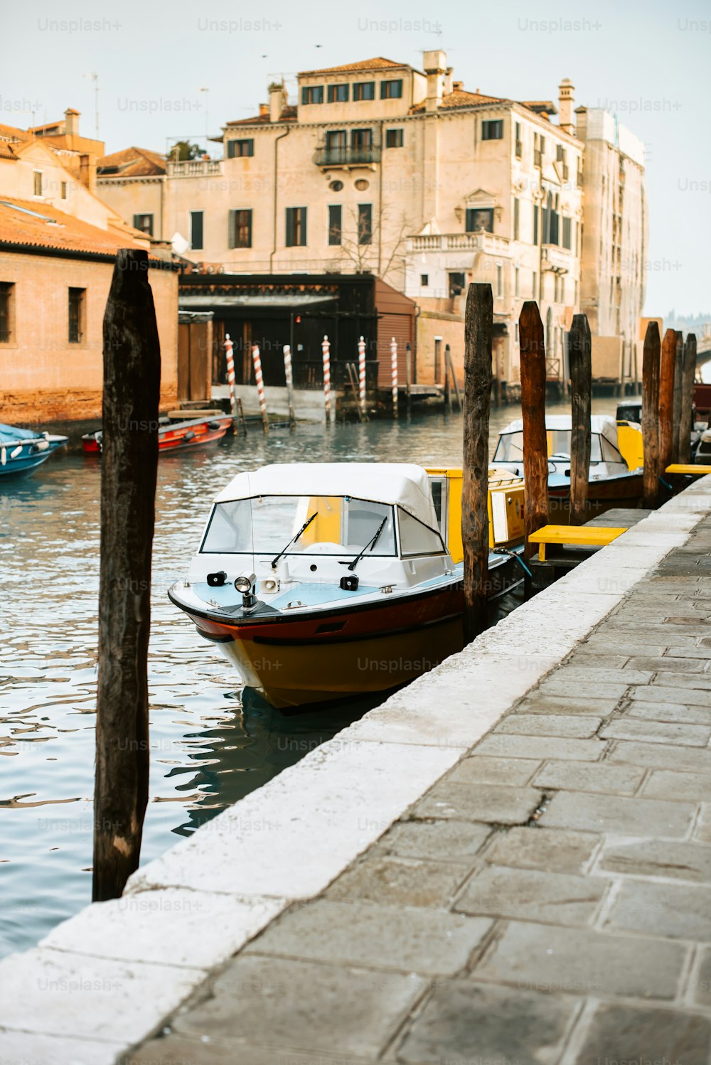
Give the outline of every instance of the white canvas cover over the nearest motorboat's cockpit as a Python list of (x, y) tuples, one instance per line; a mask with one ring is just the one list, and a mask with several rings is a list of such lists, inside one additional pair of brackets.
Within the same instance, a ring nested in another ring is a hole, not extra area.
[(276, 462), (238, 473), (215, 503), (255, 495), (352, 495), (402, 507), (439, 527), (427, 473), (410, 462)]

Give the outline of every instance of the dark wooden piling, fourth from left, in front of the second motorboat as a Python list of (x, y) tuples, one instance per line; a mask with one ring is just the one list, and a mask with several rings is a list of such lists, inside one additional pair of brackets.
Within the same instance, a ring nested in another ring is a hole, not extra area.
[(588, 315), (573, 317), (568, 338), (571, 364), (571, 525), (582, 525), (588, 507), (593, 397), (592, 340)]

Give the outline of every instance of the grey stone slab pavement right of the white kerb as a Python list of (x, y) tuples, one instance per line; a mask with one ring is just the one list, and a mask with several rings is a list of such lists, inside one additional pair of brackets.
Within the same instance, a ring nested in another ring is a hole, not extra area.
[(710, 655), (706, 517), (125, 1060), (708, 1065)]

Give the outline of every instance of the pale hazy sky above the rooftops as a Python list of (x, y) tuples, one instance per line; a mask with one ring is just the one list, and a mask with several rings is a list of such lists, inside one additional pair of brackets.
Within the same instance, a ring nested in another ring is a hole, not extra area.
[(337, 7), (123, 0), (104, 9), (0, 0), (0, 122), (39, 125), (73, 106), (81, 132), (93, 136), (98, 84), (108, 152), (165, 151), (185, 137), (204, 144), (206, 132), (257, 114), (269, 81), (283, 75), (294, 100), (297, 70), (375, 55), (421, 68), (423, 51), (442, 48), (465, 88), (512, 99), (557, 101), (559, 82), (571, 78), (576, 106), (607, 108), (646, 145), (645, 313), (711, 313), (711, 6), (704, 0)]

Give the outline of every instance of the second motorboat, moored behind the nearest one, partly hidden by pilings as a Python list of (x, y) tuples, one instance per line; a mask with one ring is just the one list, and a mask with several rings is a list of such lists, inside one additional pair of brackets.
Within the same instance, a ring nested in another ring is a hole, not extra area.
[[(643, 490), (642, 429), (635, 423), (618, 428), (607, 415), (591, 416), (591, 456), (586, 518), (612, 507), (639, 507)], [(571, 502), (569, 414), (546, 415), (548, 452), (548, 502), (550, 520), (567, 522)], [(623, 442), (624, 437), (624, 442)], [(623, 454), (622, 448), (625, 448)], [(494, 464), (524, 474), (524, 423), (517, 419), (499, 433)]]

